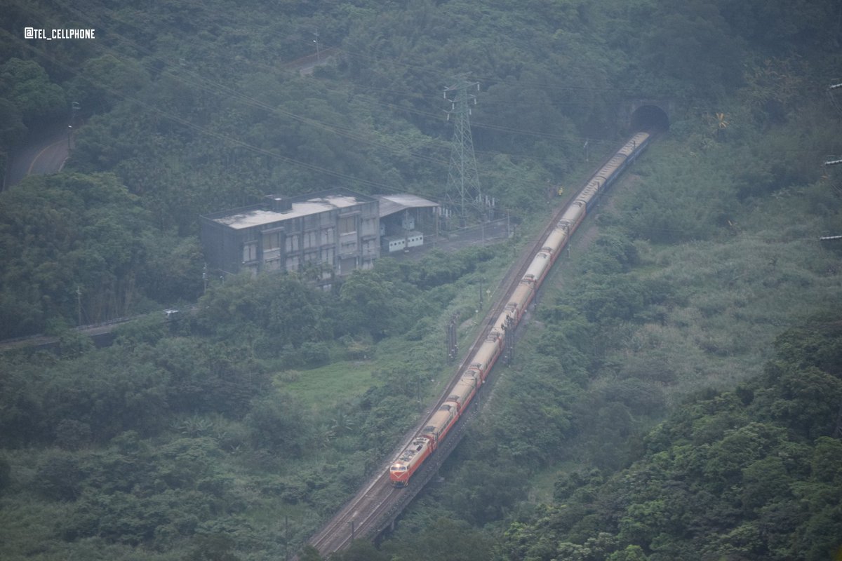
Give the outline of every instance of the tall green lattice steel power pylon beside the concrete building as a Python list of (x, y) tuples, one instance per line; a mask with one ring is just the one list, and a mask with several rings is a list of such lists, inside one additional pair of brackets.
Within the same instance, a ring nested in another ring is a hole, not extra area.
[(445, 87), (445, 99), (450, 101), (447, 120), (451, 116), (454, 120), (446, 197), (450, 206), (456, 207), (460, 225), (464, 226), (469, 207), (482, 201), (471, 136), (471, 105), (477, 104), (477, 96), (468, 93), (474, 87), (478, 92), (479, 82), (468, 82), (465, 77), (457, 77), (454, 82), (454, 85)]

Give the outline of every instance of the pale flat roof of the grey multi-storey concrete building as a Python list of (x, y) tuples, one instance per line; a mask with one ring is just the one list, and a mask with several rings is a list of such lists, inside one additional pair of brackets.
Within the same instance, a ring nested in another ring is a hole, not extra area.
[(317, 196), (310, 195), (310, 198), (302, 198), (299, 201), (293, 200), (290, 203), (289, 210), (269, 210), (262, 205), (257, 205), (234, 210), (229, 214), (211, 215), (208, 218), (234, 230), (240, 230), (300, 216), (328, 212), (333, 209), (344, 209), (354, 206), (354, 204), (363, 204), (370, 201), (371, 199), (365, 197), (365, 195), (356, 195), (343, 190), (336, 193), (319, 193)]

